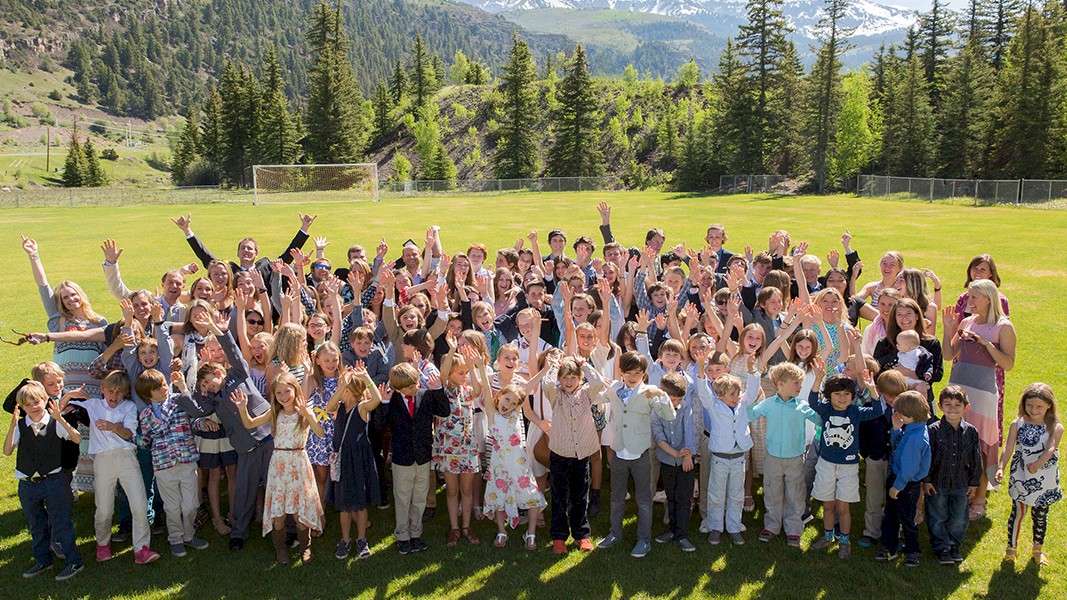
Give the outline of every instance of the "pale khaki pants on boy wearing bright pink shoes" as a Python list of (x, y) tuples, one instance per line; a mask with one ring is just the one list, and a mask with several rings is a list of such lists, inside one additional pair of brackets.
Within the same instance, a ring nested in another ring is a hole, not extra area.
[(148, 547), (152, 528), (148, 526), (148, 503), (144, 492), (144, 478), (137, 461), (137, 448), (101, 452), (93, 457), (96, 471), (96, 544), (111, 543), (111, 519), (115, 509), (115, 487), (121, 485), (129, 499), (133, 516), (133, 550)]

